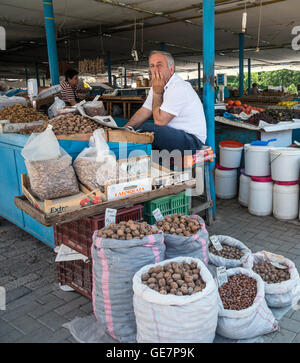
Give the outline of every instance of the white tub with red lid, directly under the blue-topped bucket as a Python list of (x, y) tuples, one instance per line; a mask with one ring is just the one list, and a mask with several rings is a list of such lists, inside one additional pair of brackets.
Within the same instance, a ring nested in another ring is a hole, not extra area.
[(249, 213), (268, 216), (273, 210), (273, 181), (271, 177), (251, 177), (249, 187)]

